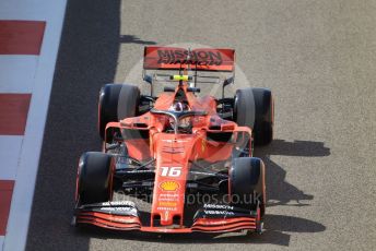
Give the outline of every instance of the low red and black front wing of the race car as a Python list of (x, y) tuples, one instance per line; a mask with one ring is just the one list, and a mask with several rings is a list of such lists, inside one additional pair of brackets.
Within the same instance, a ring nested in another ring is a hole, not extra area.
[(204, 204), (193, 216), (193, 224), (186, 226), (143, 226), (134, 203), (104, 202), (75, 208), (74, 225), (89, 224), (116, 230), (149, 232), (228, 232), (239, 230), (262, 231), (260, 212), (228, 205)]

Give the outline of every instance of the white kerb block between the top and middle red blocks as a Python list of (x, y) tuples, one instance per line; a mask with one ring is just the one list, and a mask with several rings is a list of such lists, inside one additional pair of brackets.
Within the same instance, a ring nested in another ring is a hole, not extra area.
[(0, 93), (32, 93), (38, 56), (1, 55)]

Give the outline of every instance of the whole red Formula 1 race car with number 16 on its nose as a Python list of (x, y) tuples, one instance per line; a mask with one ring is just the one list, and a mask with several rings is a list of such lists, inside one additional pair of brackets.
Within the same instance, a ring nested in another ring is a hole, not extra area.
[[(272, 141), (273, 98), (251, 87), (224, 97), (234, 59), (232, 49), (145, 47), (150, 95), (127, 84), (101, 89), (104, 150), (80, 158), (74, 225), (262, 231), (265, 165), (252, 148)], [(214, 84), (222, 84), (221, 98), (200, 96), (198, 85)]]

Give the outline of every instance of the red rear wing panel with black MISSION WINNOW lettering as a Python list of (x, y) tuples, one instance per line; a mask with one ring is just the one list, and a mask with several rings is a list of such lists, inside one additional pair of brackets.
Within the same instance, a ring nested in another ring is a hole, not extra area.
[(143, 69), (233, 72), (235, 50), (212, 48), (187, 50), (177, 47), (148, 46), (144, 48)]

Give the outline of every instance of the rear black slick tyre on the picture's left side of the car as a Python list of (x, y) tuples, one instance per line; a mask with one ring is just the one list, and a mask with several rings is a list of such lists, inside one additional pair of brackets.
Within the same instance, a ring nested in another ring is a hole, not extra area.
[(134, 117), (139, 111), (140, 89), (128, 84), (106, 84), (98, 100), (98, 131), (104, 140), (108, 122)]

